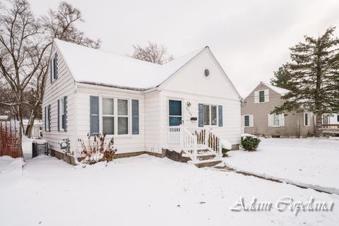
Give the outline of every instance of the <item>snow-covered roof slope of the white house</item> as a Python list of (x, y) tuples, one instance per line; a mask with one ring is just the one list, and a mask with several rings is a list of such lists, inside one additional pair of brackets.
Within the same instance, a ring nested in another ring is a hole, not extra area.
[(121, 88), (148, 89), (163, 83), (206, 47), (159, 65), (54, 40), (75, 81)]

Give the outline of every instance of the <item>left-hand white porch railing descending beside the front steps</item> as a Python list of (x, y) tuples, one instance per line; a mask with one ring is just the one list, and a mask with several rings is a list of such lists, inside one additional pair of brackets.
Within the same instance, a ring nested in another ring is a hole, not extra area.
[(191, 155), (192, 160), (196, 160), (197, 140), (191, 132), (184, 126), (167, 126), (166, 130), (167, 148), (184, 150)]

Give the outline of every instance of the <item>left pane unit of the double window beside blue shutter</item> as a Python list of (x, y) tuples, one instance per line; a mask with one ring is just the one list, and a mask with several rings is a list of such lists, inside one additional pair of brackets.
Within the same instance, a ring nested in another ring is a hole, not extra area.
[(114, 99), (102, 98), (102, 133), (114, 134)]

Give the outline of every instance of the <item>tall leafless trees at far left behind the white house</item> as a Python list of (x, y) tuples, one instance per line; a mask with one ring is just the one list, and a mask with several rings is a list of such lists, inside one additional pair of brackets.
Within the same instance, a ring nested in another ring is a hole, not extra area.
[[(23, 109), (30, 107), (30, 124), (26, 130), (30, 135), (41, 109), (54, 38), (96, 48), (100, 47), (100, 40), (90, 40), (76, 28), (74, 23), (83, 21), (81, 11), (66, 2), (61, 2), (57, 11), (50, 10), (40, 18), (35, 18), (27, 0), (8, 1), (8, 5), (9, 8), (0, 8), (0, 76), (11, 93), (1, 87), (0, 93), (6, 93), (8, 100), (0, 104), (13, 109), (20, 121), (20, 134)], [(29, 90), (30, 100), (26, 95)]]

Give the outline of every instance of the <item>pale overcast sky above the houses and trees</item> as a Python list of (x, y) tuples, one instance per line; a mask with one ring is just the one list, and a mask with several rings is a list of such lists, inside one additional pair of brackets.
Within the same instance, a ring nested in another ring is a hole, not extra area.
[[(59, 4), (29, 1), (37, 14)], [(83, 12), (86, 22), (79, 28), (100, 38), (108, 52), (131, 53), (131, 44), (150, 40), (180, 57), (208, 45), (242, 96), (259, 81), (269, 82), (303, 35), (318, 36), (339, 25), (338, 0), (68, 2)]]

